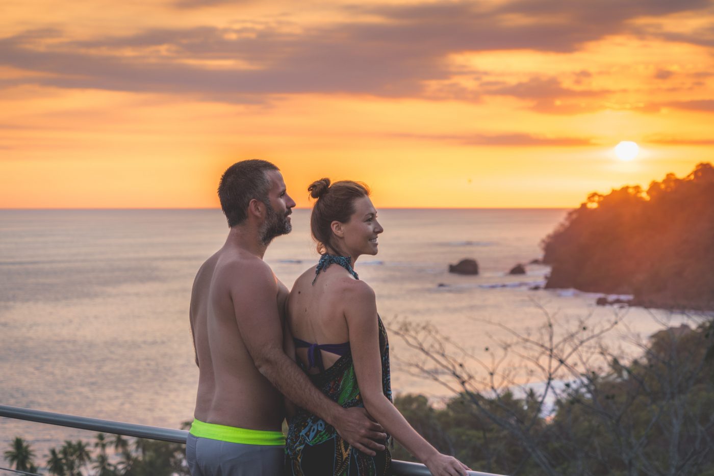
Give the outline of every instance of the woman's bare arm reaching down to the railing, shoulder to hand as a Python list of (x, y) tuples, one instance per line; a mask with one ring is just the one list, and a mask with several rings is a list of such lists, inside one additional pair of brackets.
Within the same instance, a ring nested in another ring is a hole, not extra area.
[(345, 318), (352, 359), (364, 406), (369, 414), (403, 447), (423, 462), (433, 475), (466, 475), (468, 467), (442, 455), (409, 425), (382, 389), (377, 305), (374, 291), (363, 281), (351, 280), (344, 289)]

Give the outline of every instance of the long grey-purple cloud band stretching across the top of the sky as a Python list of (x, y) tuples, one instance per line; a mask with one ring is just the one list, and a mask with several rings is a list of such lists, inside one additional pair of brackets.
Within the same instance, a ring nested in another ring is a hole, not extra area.
[[(223, 0), (179, 1), (191, 7)], [(588, 41), (630, 31), (630, 20), (640, 16), (708, 5), (708, 0), (437, 1), (351, 6), (346, 13), (359, 20), (321, 26), (255, 22), (237, 28), (150, 29), (83, 41), (67, 39), (61, 31), (36, 30), (0, 39), (0, 64), (45, 75), (27, 79), (29, 83), (190, 93), (229, 102), (260, 102), (265, 96), (292, 93), (477, 101), (481, 91), (453, 81), (458, 71), (447, 61), (451, 54), (570, 52)], [(498, 89), (489, 93), (531, 98), (542, 110), (556, 97), (588, 96), (554, 79)]]

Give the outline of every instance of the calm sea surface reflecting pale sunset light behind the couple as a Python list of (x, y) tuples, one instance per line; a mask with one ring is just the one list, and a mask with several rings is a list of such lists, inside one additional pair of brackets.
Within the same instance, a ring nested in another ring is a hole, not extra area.
[[(358, 260), (360, 278), (377, 294), (385, 322), (433, 323), (474, 353), (498, 330), (543, 322), (543, 312), (573, 320), (607, 319), (594, 295), (530, 288), (548, 268), (508, 275), (540, 257), (538, 243), (565, 210), (383, 210), (380, 253)], [(309, 212), (293, 213), (293, 232), (277, 238), (266, 261), (288, 288), (318, 255)], [(188, 301), (193, 276), (223, 245), (216, 210), (0, 210), (0, 404), (178, 427), (192, 418), (198, 370), (193, 363)], [(481, 275), (447, 272), (476, 258)], [(441, 285), (440, 285), (441, 284)], [(631, 309), (630, 327), (648, 335), (658, 323)], [(416, 358), (391, 338), (396, 393), (448, 395), (406, 373)], [(400, 370), (402, 368), (402, 370)], [(38, 460), (46, 449), (93, 432), (0, 418), (0, 449), (21, 435)]]

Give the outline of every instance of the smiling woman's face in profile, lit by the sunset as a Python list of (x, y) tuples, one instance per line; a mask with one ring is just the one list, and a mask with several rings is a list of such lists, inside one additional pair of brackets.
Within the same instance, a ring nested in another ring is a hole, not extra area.
[(356, 198), (350, 221), (342, 223), (345, 251), (353, 257), (377, 254), (377, 236), (384, 229), (377, 221), (377, 211), (368, 196)]

